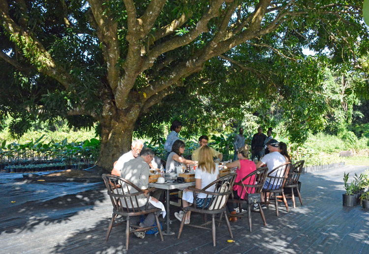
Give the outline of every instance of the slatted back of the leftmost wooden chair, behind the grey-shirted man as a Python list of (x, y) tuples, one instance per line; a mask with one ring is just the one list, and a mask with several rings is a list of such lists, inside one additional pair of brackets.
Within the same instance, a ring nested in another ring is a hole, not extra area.
[[(115, 211), (123, 213), (141, 211), (137, 197), (144, 192), (140, 188), (130, 181), (112, 174), (103, 174), (102, 179), (104, 179), (108, 195)], [(136, 192), (132, 192), (133, 190)], [(125, 204), (125, 207), (123, 204)]]

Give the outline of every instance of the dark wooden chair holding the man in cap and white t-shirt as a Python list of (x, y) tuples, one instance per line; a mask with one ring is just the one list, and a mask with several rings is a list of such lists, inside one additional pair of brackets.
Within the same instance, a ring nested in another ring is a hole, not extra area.
[[(261, 202), (262, 204), (266, 204), (266, 205), (272, 204), (272, 202), (269, 201), (271, 199), (267, 201), (267, 193), (271, 193), (271, 195), (274, 194), (277, 216), (278, 216), (278, 201), (279, 202), (282, 201), (278, 198), (283, 198), (283, 202), (284, 202), (284, 205), (286, 206), (286, 210), (287, 212), (289, 212), (287, 199), (284, 196), (283, 187), (284, 187), (284, 183), (286, 182), (290, 166), (291, 166), (291, 163), (287, 162), (287, 163), (283, 163), (282, 165), (270, 171), (266, 179), (266, 182), (268, 182), (268, 186), (266, 186), (266, 189), (262, 190), (262, 193), (264, 193), (264, 200), (265, 200), (264, 202)], [(269, 190), (270, 188), (271, 190)], [(277, 196), (277, 194), (282, 194), (282, 195)]]

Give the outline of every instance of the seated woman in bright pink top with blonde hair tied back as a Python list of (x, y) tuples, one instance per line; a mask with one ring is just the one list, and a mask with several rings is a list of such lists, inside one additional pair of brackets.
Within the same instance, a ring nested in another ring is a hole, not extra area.
[[(245, 146), (241, 147), (238, 149), (238, 158), (239, 160), (232, 162), (232, 163), (227, 163), (225, 166), (227, 166), (227, 168), (236, 168), (236, 173), (237, 173), (237, 177), (236, 177), (236, 183), (240, 182), (246, 175), (248, 175), (249, 173), (253, 172), (256, 170), (256, 166), (255, 163), (253, 163), (252, 161), (248, 160), (248, 153), (249, 153), (250, 147), (248, 146), (248, 144), (246, 144)], [(255, 182), (255, 176), (252, 176), (251, 179), (247, 178), (244, 180), (244, 184), (253, 184)], [(239, 185), (234, 185), (233, 186), (233, 195), (235, 197), (235, 199), (238, 199), (241, 195), (242, 192), (242, 197), (241, 198), (247, 198), (245, 197), (246, 191), (242, 191), (243, 187), (239, 186)], [(253, 193), (253, 192), (251, 192)], [(234, 204), (233, 203), (227, 203), (227, 207), (228, 210), (231, 214), (236, 214), (235, 208), (234, 208)], [(232, 217), (230, 219), (230, 221), (237, 221), (237, 217)]]

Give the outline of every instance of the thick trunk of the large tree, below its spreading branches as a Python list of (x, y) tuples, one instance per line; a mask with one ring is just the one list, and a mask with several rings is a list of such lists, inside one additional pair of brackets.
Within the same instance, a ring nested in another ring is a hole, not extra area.
[(120, 113), (119, 117), (108, 115), (100, 122), (101, 149), (97, 166), (111, 171), (114, 162), (130, 150), (138, 113), (138, 107), (134, 106), (129, 112)]

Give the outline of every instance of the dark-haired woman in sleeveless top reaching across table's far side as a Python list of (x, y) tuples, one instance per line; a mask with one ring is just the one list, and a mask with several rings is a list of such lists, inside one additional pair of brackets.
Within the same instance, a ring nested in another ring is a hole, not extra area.
[(186, 160), (182, 156), (185, 150), (185, 143), (182, 140), (176, 140), (172, 146), (172, 152), (169, 154), (165, 173), (177, 173), (176, 167), (188, 164), (195, 164), (194, 161)]

